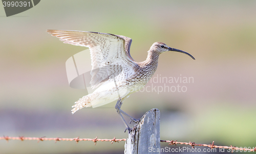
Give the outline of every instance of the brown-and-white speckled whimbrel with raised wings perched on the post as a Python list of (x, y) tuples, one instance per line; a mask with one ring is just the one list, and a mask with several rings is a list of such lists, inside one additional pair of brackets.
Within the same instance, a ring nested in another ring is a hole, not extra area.
[(130, 55), (132, 39), (129, 37), (82, 31), (47, 30), (47, 32), (60, 38), (64, 43), (85, 46), (90, 49), (92, 60), (90, 84), (97, 89), (76, 101), (75, 105), (72, 106), (72, 113), (106, 100), (118, 100), (115, 109), (126, 126), (125, 131), (128, 130), (129, 132), (131, 129), (122, 115), (129, 117), (134, 122), (138, 122), (139, 119), (123, 112), (120, 109), (122, 102), (131, 93), (143, 88), (152, 78), (157, 69), (159, 55), (173, 51), (186, 54), (195, 60), (193, 56), (182, 50), (168, 47), (161, 42), (155, 42), (148, 50), (146, 60), (136, 62)]

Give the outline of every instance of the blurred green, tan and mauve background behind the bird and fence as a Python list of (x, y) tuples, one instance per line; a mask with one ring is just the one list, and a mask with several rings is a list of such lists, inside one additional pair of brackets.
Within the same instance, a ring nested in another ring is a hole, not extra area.
[[(74, 115), (84, 90), (69, 87), (65, 63), (86, 49), (46, 30), (112, 33), (133, 39), (146, 59), (154, 42), (182, 49), (160, 56), (158, 77), (193, 77), (186, 92), (137, 92), (122, 110), (135, 118), (158, 108), (161, 140), (256, 146), (256, 1), (41, 1), (6, 17), (0, 7), (0, 135), (127, 138), (116, 102)], [(88, 59), (90, 60), (90, 58)], [(177, 83), (166, 83), (177, 86)], [(148, 83), (146, 86), (164, 86)], [(174, 146), (161, 143), (161, 146)], [(0, 140), (0, 153), (122, 153), (124, 142)]]

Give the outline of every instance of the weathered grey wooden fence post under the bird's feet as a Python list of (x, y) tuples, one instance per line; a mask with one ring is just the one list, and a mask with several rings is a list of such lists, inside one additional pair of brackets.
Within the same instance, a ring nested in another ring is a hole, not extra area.
[(160, 153), (160, 111), (151, 109), (133, 127), (125, 141), (125, 154)]

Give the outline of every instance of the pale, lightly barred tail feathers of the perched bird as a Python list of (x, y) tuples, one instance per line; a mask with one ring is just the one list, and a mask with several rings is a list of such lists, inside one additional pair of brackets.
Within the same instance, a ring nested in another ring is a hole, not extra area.
[(72, 106), (72, 114), (74, 114), (77, 110), (82, 109), (84, 107), (91, 107), (91, 101), (95, 98), (95, 95), (89, 94), (86, 96), (83, 96), (79, 100), (75, 102), (75, 105)]

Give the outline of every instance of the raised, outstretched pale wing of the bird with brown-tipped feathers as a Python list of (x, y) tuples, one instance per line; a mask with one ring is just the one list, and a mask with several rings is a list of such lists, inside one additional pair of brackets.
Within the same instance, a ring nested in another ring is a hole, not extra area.
[(129, 37), (83, 31), (47, 30), (47, 32), (60, 38), (64, 43), (90, 48), (92, 88), (109, 80), (112, 75), (117, 76), (123, 69), (125, 76), (133, 73), (137, 65), (130, 55), (132, 39)]

